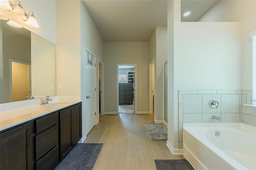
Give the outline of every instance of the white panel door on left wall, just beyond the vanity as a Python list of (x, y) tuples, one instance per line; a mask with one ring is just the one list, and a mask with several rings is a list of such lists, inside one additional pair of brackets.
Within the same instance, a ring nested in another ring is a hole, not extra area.
[(86, 134), (92, 130), (96, 124), (96, 65), (95, 57), (85, 50), (85, 115)]

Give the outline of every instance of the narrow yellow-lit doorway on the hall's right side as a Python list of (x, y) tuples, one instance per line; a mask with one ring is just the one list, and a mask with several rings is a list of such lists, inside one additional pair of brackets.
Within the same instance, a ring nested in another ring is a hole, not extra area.
[(149, 63), (149, 114), (155, 113), (155, 59)]

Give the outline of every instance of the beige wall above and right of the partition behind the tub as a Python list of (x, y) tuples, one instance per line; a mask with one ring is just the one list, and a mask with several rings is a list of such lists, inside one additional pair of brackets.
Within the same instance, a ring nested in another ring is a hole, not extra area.
[(242, 23), (242, 89), (252, 90), (252, 39), (250, 32), (256, 30), (256, 1), (220, 0), (198, 21)]

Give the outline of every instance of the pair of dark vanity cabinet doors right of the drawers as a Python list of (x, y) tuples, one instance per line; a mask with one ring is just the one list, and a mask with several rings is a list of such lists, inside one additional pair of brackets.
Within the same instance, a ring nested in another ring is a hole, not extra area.
[(60, 111), (60, 159), (62, 160), (82, 138), (82, 105)]

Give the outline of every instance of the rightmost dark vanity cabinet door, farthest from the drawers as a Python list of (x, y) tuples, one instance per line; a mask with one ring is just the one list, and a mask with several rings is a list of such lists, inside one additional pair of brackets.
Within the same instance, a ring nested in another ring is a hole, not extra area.
[(72, 146), (75, 146), (78, 143), (78, 141), (82, 138), (82, 105), (81, 103), (73, 106), (72, 127), (73, 127)]

